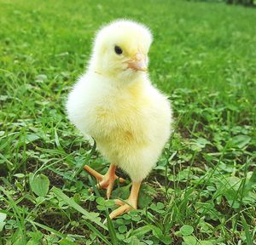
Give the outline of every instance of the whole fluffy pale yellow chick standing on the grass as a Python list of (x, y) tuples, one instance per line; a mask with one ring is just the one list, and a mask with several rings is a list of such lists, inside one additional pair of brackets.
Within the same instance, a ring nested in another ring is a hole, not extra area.
[[(67, 114), (84, 135), (96, 140), (111, 162), (108, 173), (84, 169), (111, 195), (116, 167), (129, 174), (131, 194), (111, 214), (113, 219), (137, 208), (142, 180), (160, 157), (171, 134), (172, 109), (166, 96), (150, 83), (148, 50), (153, 41), (146, 26), (116, 20), (97, 32), (89, 66), (67, 99)], [(119, 179), (123, 182), (124, 179)]]

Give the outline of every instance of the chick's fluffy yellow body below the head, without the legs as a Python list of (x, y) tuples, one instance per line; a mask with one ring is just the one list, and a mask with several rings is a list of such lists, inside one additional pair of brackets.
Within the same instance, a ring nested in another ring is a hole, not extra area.
[(81, 77), (68, 98), (69, 117), (109, 162), (133, 181), (144, 179), (169, 138), (170, 103), (147, 76), (125, 86), (108, 79), (90, 71)]

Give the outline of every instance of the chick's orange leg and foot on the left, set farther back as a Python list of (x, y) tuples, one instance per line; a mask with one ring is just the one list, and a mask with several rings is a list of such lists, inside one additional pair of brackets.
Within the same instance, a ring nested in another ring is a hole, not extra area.
[(105, 175), (102, 175), (102, 174), (96, 172), (96, 170), (94, 170), (93, 168), (90, 168), (88, 165), (84, 166), (84, 170), (86, 170), (89, 174), (91, 174), (92, 176), (94, 176), (97, 179), (98, 184), (96, 185), (96, 187), (107, 190), (107, 198), (108, 199), (111, 195), (111, 191), (113, 190), (114, 179), (119, 179), (120, 183), (123, 183), (125, 181), (125, 179), (119, 178), (115, 174), (115, 168), (116, 167), (114, 164), (110, 164), (110, 166), (108, 168), (108, 172)]

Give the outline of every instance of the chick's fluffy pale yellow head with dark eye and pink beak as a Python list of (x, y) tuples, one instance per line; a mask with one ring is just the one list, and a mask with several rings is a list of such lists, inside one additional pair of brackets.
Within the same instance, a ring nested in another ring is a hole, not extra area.
[(146, 26), (116, 20), (96, 34), (90, 68), (111, 77), (136, 77), (147, 71), (152, 40)]

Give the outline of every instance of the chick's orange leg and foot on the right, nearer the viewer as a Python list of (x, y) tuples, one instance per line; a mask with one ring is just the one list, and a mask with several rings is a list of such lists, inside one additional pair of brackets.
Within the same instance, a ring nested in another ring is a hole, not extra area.
[(120, 200), (115, 201), (115, 203), (120, 205), (121, 207), (113, 210), (113, 212), (109, 214), (110, 219), (114, 219), (121, 214), (127, 213), (131, 209), (137, 209), (138, 192), (140, 190), (141, 184), (142, 181), (132, 183), (130, 197), (128, 197), (128, 199), (126, 200), (127, 203)]

